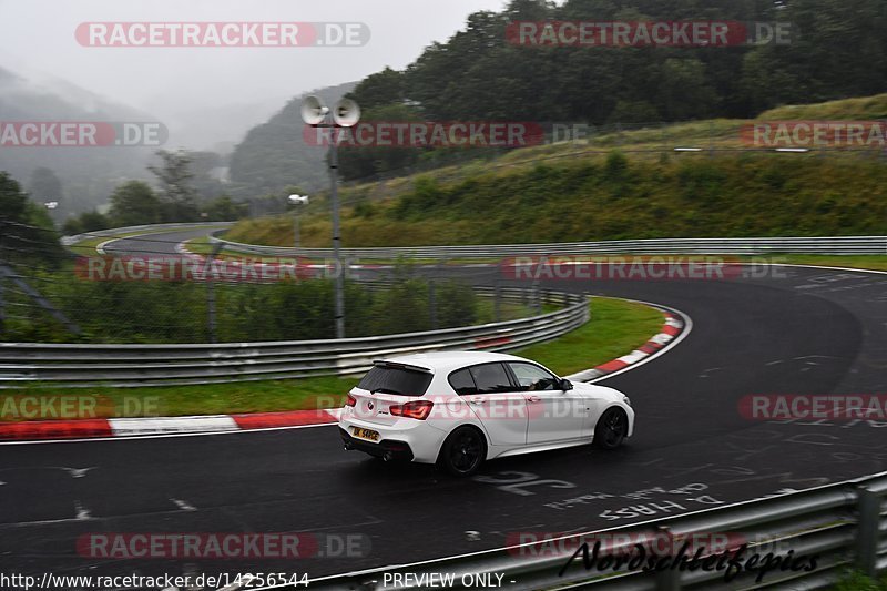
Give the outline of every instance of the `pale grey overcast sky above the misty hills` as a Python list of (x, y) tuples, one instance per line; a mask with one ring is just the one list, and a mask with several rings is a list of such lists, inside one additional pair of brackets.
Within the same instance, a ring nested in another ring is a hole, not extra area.
[[(0, 0), (0, 67), (63, 78), (157, 116), (278, 101), (400, 69), (506, 0)], [(89, 48), (90, 21), (363, 22), (361, 48)], [(281, 104), (282, 106), (282, 104)]]

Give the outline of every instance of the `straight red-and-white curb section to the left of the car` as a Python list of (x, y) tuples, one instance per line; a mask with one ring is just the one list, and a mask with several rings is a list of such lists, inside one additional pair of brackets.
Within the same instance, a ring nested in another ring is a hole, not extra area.
[(0, 424), (0, 440), (81, 439), (142, 435), (208, 434), (305, 427), (338, 421), (339, 409), (289, 410), (249, 415), (39, 420)]

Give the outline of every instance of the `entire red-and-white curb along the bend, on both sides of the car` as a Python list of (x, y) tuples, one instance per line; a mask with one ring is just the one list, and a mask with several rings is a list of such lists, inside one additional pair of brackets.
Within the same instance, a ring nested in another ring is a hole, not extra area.
[[(648, 304), (650, 305), (650, 304)], [(660, 308), (661, 309), (661, 308)], [(573, 381), (591, 381), (621, 371), (662, 351), (684, 332), (685, 323), (676, 314), (663, 310), (662, 330), (640, 348), (618, 359), (567, 376)], [(88, 439), (186, 434), (221, 434), (253, 429), (279, 429), (330, 425), (338, 421), (340, 409), (289, 410), (245, 415), (205, 415), (197, 417), (146, 417), (118, 419), (41, 420), (0, 422), (0, 441), (47, 439)]]

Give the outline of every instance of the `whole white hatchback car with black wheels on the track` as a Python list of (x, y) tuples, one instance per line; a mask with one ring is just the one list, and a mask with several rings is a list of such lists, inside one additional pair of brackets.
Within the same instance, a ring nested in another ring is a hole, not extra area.
[(483, 460), (594, 442), (619, 447), (634, 430), (629, 397), (571, 384), (497, 353), (429, 353), (374, 363), (339, 418), (345, 449), (438, 463), (457, 476)]

